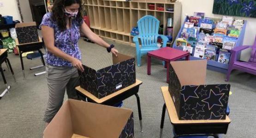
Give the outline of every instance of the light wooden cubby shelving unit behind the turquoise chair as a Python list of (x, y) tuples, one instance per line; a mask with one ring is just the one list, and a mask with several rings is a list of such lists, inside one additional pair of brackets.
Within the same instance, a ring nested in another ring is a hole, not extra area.
[[(154, 4), (155, 9), (150, 10), (149, 4)], [(165, 10), (157, 11), (159, 6)], [(134, 46), (131, 29), (136, 27), (137, 21), (145, 15), (155, 16), (160, 25), (163, 24), (162, 35), (166, 35), (167, 19), (170, 17), (173, 19), (174, 39), (180, 29), (181, 4), (171, 3), (170, 0), (83, 0), (83, 8), (89, 15), (90, 27), (95, 34), (131, 46)], [(167, 8), (173, 8), (174, 11), (166, 11)]]

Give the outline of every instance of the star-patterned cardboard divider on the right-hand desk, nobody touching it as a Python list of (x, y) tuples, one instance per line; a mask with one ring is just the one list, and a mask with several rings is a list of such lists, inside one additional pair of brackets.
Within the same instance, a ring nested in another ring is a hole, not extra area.
[(180, 120), (224, 120), (229, 84), (206, 85), (206, 60), (171, 62), (169, 92)]

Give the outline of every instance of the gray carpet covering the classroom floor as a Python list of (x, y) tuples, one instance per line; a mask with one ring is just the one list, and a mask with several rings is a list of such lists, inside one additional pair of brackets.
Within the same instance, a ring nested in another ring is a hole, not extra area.
[[(80, 40), (80, 48), (83, 63), (100, 69), (112, 63), (111, 54), (106, 49), (95, 44)], [(113, 43), (113, 41), (109, 41)], [(135, 48), (115, 43), (121, 53), (135, 56)], [(10, 94), (6, 94), (0, 100), (0, 138), (42, 138), (44, 122), (42, 117), (48, 101), (47, 82), (44, 75), (34, 76), (34, 73), (44, 69), (29, 70), (31, 66), (41, 64), (40, 59), (28, 60), (24, 58), (26, 80), (23, 80), (21, 64), (18, 56), (9, 54), (9, 59), (14, 69), (17, 82), (14, 83), (10, 72), (6, 71), (8, 85), (11, 85)], [(134, 111), (135, 136), (136, 138), (159, 138), (161, 111), (164, 100), (161, 86), (167, 86), (166, 69), (161, 62), (152, 59), (152, 72), (147, 75), (146, 57), (142, 58), (142, 66), (136, 67), (137, 79), (143, 81), (140, 86), (144, 132), (139, 132), (138, 112), (136, 98), (133, 96), (124, 101), (124, 107)], [(6, 65), (3, 64), (3, 68)], [(207, 83), (226, 83), (225, 75), (207, 71)], [(5, 89), (0, 77), (0, 92)], [(231, 79), (231, 91), (229, 98), (231, 109), (228, 132), (224, 138), (256, 138), (256, 76), (247, 73), (233, 71)], [(66, 99), (66, 97), (65, 97)], [(173, 137), (172, 126), (166, 114), (163, 130), (164, 138)]]

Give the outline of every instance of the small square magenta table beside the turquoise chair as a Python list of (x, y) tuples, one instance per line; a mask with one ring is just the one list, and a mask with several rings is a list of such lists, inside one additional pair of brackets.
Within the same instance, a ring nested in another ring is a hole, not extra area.
[(190, 53), (184, 52), (171, 47), (163, 47), (158, 50), (148, 52), (148, 75), (151, 74), (151, 57), (158, 58), (165, 61), (165, 66), (167, 66), (167, 83), (169, 82), (169, 68), (170, 62), (177, 59), (185, 57), (185, 60), (189, 60)]

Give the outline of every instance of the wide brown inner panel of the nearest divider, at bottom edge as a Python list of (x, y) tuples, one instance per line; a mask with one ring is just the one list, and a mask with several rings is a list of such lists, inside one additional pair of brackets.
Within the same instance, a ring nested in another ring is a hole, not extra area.
[(89, 138), (119, 138), (132, 114), (129, 109), (69, 100), (74, 133)]

